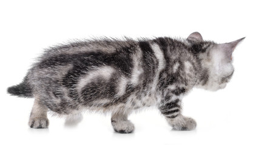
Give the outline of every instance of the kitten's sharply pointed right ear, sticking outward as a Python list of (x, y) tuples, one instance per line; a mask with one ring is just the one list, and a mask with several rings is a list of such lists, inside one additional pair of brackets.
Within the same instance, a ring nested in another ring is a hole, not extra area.
[(226, 54), (227, 59), (232, 60), (232, 53), (235, 50), (235, 47), (237, 47), (238, 43), (240, 43), (245, 37), (234, 40), (229, 43), (222, 43), (220, 44), (220, 48), (224, 51)]

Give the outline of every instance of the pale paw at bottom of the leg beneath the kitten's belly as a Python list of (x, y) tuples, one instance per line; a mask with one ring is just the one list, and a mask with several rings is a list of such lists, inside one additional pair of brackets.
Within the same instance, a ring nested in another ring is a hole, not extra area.
[(126, 121), (112, 120), (111, 123), (114, 130), (121, 134), (129, 134), (129, 133), (132, 133), (134, 130), (134, 125), (129, 120), (126, 120)]

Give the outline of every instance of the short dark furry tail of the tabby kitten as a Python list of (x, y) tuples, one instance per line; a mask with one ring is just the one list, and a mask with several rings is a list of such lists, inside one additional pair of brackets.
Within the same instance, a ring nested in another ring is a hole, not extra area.
[(12, 95), (18, 95), (19, 97), (32, 98), (32, 89), (25, 81), (19, 85), (11, 86), (7, 89), (7, 92)]

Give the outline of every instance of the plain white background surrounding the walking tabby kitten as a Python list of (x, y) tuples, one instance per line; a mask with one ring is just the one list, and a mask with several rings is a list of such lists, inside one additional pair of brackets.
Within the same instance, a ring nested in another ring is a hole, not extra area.
[[(0, 144), (256, 144), (255, 4), (253, 1), (1, 1)], [(6, 93), (21, 82), (44, 48), (99, 36), (246, 39), (234, 52), (235, 73), (226, 89), (194, 89), (184, 98), (192, 131), (175, 131), (157, 109), (130, 115), (133, 134), (116, 134), (110, 115), (84, 114), (77, 126), (49, 116), (49, 129), (27, 125), (33, 99)]]

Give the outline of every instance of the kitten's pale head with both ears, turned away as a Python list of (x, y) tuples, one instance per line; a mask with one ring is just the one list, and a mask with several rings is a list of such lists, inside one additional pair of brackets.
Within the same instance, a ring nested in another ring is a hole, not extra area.
[[(201, 49), (206, 49), (199, 55), (202, 65), (199, 88), (217, 91), (226, 87), (234, 73), (232, 53), (243, 38), (229, 43), (206, 42), (200, 33), (192, 33), (187, 40), (194, 43), (203, 43)], [(205, 48), (204, 48), (205, 47)]]

